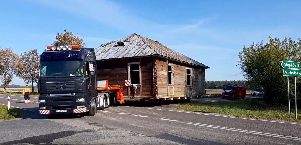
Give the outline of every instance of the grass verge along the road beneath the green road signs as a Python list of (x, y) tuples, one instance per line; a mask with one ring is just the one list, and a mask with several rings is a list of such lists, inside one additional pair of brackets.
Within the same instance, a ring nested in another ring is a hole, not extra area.
[[(297, 111), (298, 119), (290, 119), (287, 107), (271, 107), (259, 100), (233, 100), (204, 104), (187, 104), (176, 106), (176, 108), (185, 111), (219, 113), (244, 118), (301, 122), (300, 109)], [(291, 109), (291, 111), (292, 118), (294, 118), (294, 109)]]

